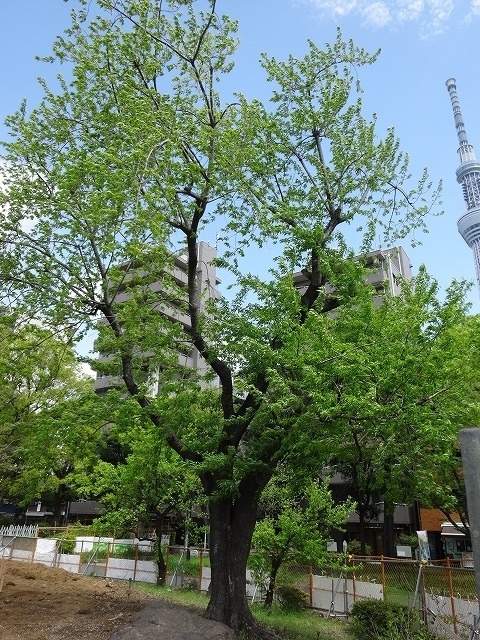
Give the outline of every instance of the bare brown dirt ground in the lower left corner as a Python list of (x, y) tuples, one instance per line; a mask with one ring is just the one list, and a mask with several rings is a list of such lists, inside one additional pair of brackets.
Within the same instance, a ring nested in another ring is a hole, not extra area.
[(125, 583), (5, 563), (0, 640), (107, 640), (152, 599)]

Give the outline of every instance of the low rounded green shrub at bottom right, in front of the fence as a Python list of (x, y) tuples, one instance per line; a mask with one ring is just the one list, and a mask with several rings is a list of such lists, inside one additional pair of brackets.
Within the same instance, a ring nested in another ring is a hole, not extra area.
[(356, 640), (425, 640), (425, 629), (407, 607), (383, 600), (363, 600), (351, 610), (351, 632)]

